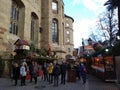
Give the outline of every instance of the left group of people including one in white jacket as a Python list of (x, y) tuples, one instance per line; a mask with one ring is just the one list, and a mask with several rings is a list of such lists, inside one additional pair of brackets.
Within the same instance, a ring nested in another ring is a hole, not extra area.
[(37, 77), (39, 74), (40, 66), (37, 61), (32, 61), (30, 65), (26, 61), (22, 61), (19, 65), (17, 61), (13, 62), (11, 69), (11, 78), (15, 81), (14, 85), (17, 85), (18, 80), (21, 80), (21, 86), (26, 85), (26, 77), (30, 75), (30, 82), (37, 83)]

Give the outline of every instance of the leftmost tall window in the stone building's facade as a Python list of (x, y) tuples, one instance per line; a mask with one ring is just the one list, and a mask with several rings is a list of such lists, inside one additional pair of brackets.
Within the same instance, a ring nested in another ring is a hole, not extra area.
[(19, 19), (19, 7), (18, 5), (12, 1), (11, 7), (11, 20), (10, 20), (10, 29), (9, 32), (12, 34), (18, 34), (18, 19)]

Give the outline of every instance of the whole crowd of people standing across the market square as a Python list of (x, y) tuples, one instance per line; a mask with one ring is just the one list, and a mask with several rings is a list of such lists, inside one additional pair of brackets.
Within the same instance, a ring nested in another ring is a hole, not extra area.
[[(18, 84), (18, 80), (21, 81), (21, 86), (26, 85), (26, 77), (30, 75), (30, 83), (34, 81), (37, 84), (37, 79), (39, 72), (42, 70), (43, 74), (41, 75), (43, 81), (49, 82), (54, 86), (58, 86), (59, 82), (63, 85), (66, 84), (66, 74), (68, 71), (68, 63), (62, 62), (58, 63), (47, 63), (44, 62), (42, 65), (39, 65), (37, 61), (31, 61), (28, 65), (26, 61), (22, 61), (19, 65), (18, 62), (14, 62), (12, 65), (12, 79), (14, 79), (14, 85)], [(83, 84), (86, 83), (86, 68), (83, 63), (74, 65), (74, 70), (76, 71), (76, 78), (79, 80), (82, 78)]]

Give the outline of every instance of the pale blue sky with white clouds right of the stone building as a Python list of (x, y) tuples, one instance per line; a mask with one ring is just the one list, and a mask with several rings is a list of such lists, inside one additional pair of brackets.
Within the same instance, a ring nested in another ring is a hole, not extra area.
[(74, 48), (82, 44), (82, 38), (88, 39), (99, 14), (106, 10), (107, 0), (63, 0), (64, 12), (74, 19)]

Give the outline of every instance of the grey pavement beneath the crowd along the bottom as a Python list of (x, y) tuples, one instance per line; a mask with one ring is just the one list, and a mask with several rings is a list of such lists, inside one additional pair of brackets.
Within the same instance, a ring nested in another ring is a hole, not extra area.
[(88, 75), (86, 84), (82, 83), (82, 80), (76, 82), (66, 82), (65, 85), (59, 84), (58, 87), (54, 87), (53, 84), (49, 84), (43, 81), (41, 77), (38, 78), (38, 83), (30, 83), (26, 81), (26, 86), (20, 86), (20, 80), (18, 85), (14, 86), (14, 81), (10, 78), (0, 78), (0, 90), (120, 90), (116, 83), (106, 83), (94, 76)]

